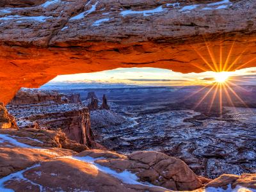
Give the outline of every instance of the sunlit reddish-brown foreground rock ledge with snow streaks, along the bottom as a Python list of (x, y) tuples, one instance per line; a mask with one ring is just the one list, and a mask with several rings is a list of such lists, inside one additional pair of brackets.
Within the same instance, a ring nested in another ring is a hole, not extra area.
[(256, 191), (255, 174), (221, 175), (210, 180), (196, 176), (180, 159), (159, 152), (141, 151), (126, 156), (106, 150), (84, 150), (77, 154), (72, 147), (63, 148), (61, 136), (54, 132), (0, 131), (1, 189), (199, 192), (244, 188)]

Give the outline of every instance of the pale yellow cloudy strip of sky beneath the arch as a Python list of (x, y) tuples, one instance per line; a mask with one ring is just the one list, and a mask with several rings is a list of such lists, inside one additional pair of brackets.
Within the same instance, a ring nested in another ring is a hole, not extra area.
[[(220, 74), (202, 72), (182, 74), (162, 68), (116, 68), (87, 74), (58, 76), (50, 83), (101, 83), (144, 86), (189, 86), (212, 84)], [(236, 84), (256, 84), (256, 67), (227, 72)]]

